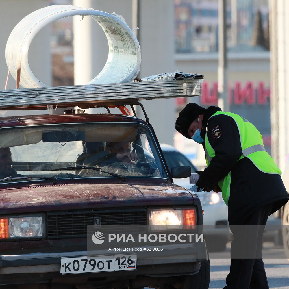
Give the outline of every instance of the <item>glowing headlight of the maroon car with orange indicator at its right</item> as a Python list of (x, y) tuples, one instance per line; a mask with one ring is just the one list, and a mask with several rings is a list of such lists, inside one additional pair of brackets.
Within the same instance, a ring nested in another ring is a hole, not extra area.
[(195, 229), (195, 209), (149, 210), (150, 231)]

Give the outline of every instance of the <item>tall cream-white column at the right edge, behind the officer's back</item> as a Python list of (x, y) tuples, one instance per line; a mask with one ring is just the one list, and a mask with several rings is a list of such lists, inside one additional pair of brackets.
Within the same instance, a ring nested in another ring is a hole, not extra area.
[[(273, 158), (281, 170), (289, 155), (289, 1), (271, 0), (271, 135)], [(277, 63), (276, 63), (277, 62)]]

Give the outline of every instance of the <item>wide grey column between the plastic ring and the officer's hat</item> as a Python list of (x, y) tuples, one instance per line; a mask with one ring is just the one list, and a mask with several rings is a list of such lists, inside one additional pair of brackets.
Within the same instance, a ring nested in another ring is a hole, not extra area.
[[(139, 1), (139, 6), (138, 37), (142, 55), (140, 78), (174, 72), (174, 1), (146, 0)], [(142, 104), (159, 142), (173, 145), (175, 99), (149, 100)]]

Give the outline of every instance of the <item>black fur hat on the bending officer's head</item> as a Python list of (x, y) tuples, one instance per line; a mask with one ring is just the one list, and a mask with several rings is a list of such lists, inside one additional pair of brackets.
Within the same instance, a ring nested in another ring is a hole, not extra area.
[(188, 135), (188, 129), (191, 123), (199, 116), (204, 115), (206, 109), (197, 105), (196, 103), (188, 103), (183, 110), (179, 113), (179, 117), (175, 123), (175, 129), (186, 138), (190, 138)]

